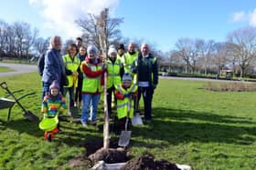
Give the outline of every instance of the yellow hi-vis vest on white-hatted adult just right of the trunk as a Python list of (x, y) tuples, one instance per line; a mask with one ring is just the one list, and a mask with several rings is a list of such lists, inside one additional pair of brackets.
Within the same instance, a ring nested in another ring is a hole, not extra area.
[(116, 86), (121, 84), (121, 75), (120, 75), (120, 69), (121, 69), (121, 61), (116, 58), (114, 63), (112, 64), (112, 61), (108, 59), (108, 84), (107, 88), (112, 87), (112, 85)]

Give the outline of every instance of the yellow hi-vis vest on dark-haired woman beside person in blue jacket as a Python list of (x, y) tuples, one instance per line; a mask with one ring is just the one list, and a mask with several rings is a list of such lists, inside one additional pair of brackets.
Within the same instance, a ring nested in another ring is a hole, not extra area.
[[(62, 57), (62, 59), (63, 59), (65, 67), (68, 70), (70, 70), (71, 72), (75, 72), (78, 70), (78, 68), (80, 66), (80, 59), (77, 56), (75, 56), (73, 59), (71, 59), (71, 57), (69, 55), (64, 55)], [(74, 82), (75, 82), (75, 86), (78, 86), (77, 78), (78, 77), (74, 77), (73, 75), (67, 75), (69, 84), (65, 87), (73, 86)]]

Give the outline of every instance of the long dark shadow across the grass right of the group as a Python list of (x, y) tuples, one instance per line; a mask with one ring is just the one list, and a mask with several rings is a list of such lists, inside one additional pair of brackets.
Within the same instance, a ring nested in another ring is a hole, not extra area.
[(155, 108), (151, 125), (133, 127), (133, 136), (144, 141), (135, 145), (155, 147), (151, 139), (164, 144), (179, 143), (226, 143), (250, 145), (256, 140), (256, 123), (248, 117), (212, 115), (189, 110)]

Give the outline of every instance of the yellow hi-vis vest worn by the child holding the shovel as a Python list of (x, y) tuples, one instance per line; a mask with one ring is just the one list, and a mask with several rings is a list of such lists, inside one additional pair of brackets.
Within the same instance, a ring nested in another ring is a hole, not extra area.
[[(132, 85), (130, 88), (124, 89), (122, 85), (117, 85), (116, 89), (119, 91), (119, 93), (125, 95), (125, 94), (131, 94), (135, 93), (138, 90), (137, 85)], [(121, 119), (127, 115), (128, 112), (128, 105), (131, 105), (130, 107), (130, 114), (129, 117), (133, 117), (133, 100), (131, 101), (131, 104), (129, 104), (129, 97), (124, 97), (123, 100), (117, 100), (117, 117), (118, 119)]]

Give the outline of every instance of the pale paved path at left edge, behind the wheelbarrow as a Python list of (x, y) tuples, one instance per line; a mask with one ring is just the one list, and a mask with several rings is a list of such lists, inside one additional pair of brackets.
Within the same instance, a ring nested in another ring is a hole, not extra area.
[(30, 73), (37, 71), (37, 65), (21, 65), (21, 64), (6, 64), (0, 63), (0, 66), (6, 66), (14, 71), (11, 72), (0, 72), (0, 76), (18, 75), (23, 73)]

